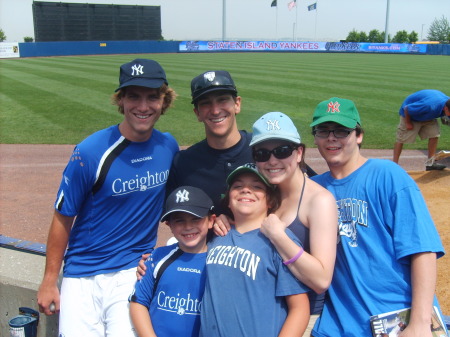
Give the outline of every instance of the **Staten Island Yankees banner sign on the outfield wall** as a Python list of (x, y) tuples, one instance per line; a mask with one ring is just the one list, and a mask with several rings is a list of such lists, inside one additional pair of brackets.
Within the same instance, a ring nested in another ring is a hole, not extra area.
[(288, 51), (288, 52), (358, 52), (426, 53), (427, 45), (407, 43), (362, 42), (292, 42), (292, 41), (182, 41), (180, 52)]

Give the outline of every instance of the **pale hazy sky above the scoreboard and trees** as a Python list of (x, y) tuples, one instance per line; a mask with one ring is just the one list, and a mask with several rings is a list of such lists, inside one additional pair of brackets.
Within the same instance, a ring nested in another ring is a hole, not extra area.
[[(435, 19), (450, 20), (450, 0), (66, 0), (61, 2), (161, 6), (165, 40), (339, 41), (353, 29), (394, 36), (415, 31), (426, 40)], [(57, 1), (60, 2), (60, 1)], [(5, 42), (34, 38), (32, 0), (0, 0)], [(308, 5), (317, 3), (317, 10)], [(387, 11), (389, 3), (389, 11)], [(223, 8), (225, 7), (225, 11)], [(224, 15), (225, 13), (225, 15)]]

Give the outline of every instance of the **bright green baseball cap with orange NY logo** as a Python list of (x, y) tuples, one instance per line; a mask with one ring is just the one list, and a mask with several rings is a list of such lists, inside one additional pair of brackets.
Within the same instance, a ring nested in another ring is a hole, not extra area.
[(313, 122), (309, 126), (314, 127), (326, 122), (338, 123), (350, 129), (354, 129), (357, 124), (361, 125), (355, 103), (339, 97), (320, 102), (314, 110)]

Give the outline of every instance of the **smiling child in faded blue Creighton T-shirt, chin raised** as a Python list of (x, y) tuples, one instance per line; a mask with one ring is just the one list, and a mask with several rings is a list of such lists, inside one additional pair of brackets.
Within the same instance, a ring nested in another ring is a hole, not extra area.
[(231, 172), (227, 185), (223, 204), (234, 226), (208, 243), (200, 336), (301, 336), (309, 321), (309, 289), (286, 265), (303, 249), (283, 262), (260, 231), (280, 195), (254, 164)]

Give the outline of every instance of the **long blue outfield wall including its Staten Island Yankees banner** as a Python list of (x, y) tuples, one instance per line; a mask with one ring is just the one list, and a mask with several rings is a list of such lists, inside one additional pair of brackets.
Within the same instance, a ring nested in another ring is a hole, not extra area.
[(450, 55), (449, 44), (292, 41), (22, 42), (20, 57), (208, 52), (341, 52)]

